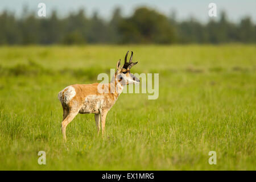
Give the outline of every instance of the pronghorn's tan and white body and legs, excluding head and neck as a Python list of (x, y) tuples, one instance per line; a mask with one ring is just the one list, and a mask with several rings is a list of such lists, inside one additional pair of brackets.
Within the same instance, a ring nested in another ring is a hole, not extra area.
[[(113, 83), (102, 84), (102, 87), (108, 89), (109, 93), (99, 93), (97, 90), (98, 83), (75, 84), (68, 86), (59, 93), (59, 100), (63, 106), (62, 130), (64, 139), (66, 139), (65, 129), (68, 123), (70, 123), (78, 113), (95, 114), (98, 133), (100, 131), (100, 123), (98, 119), (101, 115), (101, 129), (102, 134), (104, 133), (106, 114), (115, 104), (115, 101), (119, 96), (119, 93), (115, 92), (115, 90), (114, 93), (110, 92), (111, 86), (114, 86)], [(117, 86), (117, 82), (115, 82), (115, 86)], [(66, 97), (68, 97), (67, 92), (71, 87), (75, 89), (76, 95), (69, 101)]]

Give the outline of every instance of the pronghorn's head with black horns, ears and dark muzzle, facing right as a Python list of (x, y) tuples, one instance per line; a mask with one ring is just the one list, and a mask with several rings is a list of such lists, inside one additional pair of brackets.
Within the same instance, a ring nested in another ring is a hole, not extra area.
[(125, 64), (121, 66), (121, 60), (117, 62), (117, 71), (115, 72), (115, 77), (118, 82), (121, 82), (122, 85), (128, 84), (139, 84), (139, 79), (130, 73), (131, 67), (133, 67), (136, 63), (131, 62), (133, 60), (133, 51), (131, 51), (131, 57), (129, 63), (127, 62), (127, 56), (129, 51), (127, 51), (125, 55)]

